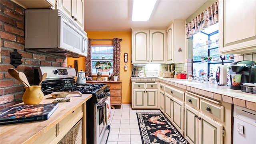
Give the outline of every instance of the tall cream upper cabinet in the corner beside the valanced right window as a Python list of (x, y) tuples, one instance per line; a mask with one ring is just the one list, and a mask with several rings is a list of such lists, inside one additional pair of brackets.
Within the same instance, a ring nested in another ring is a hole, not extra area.
[(185, 48), (185, 20), (174, 20), (166, 30), (166, 63), (184, 63)]

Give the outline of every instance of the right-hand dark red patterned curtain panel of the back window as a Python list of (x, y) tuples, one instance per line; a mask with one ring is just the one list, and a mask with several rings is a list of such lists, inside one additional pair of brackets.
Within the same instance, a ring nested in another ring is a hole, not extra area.
[(113, 40), (113, 74), (118, 74), (118, 80), (120, 80), (120, 53), (121, 46), (119, 38)]

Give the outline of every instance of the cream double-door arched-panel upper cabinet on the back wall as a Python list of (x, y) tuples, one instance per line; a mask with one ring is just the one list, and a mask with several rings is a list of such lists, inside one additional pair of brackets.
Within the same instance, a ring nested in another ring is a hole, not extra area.
[(165, 64), (166, 30), (132, 29), (132, 63)]

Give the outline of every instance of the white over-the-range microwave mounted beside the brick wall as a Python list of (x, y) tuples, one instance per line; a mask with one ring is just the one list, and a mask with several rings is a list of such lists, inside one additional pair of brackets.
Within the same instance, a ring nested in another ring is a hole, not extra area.
[(57, 56), (87, 56), (87, 34), (60, 10), (26, 10), (25, 48)]

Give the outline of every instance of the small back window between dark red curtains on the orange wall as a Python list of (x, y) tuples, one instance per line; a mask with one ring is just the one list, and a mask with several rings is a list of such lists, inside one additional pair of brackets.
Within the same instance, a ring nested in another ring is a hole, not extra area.
[(113, 46), (91, 46), (92, 74), (103, 68), (102, 74), (113, 73)]

